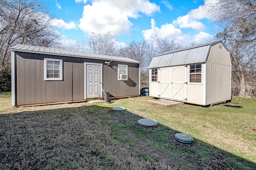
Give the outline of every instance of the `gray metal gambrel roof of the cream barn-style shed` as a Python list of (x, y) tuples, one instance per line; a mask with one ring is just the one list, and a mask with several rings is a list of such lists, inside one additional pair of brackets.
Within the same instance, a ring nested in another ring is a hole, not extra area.
[[(206, 63), (210, 47), (218, 43), (222, 42), (220, 40), (210, 41), (207, 43), (162, 53), (153, 57), (149, 68)], [(222, 45), (225, 47), (223, 43)]]

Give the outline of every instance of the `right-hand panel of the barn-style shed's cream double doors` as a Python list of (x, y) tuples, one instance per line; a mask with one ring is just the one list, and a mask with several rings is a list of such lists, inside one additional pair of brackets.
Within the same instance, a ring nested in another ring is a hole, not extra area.
[(171, 98), (174, 100), (187, 100), (187, 67), (172, 67)]

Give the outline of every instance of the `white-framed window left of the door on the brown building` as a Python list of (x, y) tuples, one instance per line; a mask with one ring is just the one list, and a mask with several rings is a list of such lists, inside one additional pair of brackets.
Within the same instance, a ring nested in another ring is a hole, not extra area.
[(44, 58), (44, 80), (63, 80), (62, 59)]

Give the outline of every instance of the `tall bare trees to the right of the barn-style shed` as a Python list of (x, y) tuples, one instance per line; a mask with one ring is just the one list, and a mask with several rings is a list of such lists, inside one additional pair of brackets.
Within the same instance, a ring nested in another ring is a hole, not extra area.
[(223, 26), (223, 31), (216, 37), (222, 39), (230, 50), (233, 95), (250, 96), (254, 94), (250, 92), (253, 89), (248, 89), (253, 74), (248, 73), (256, 64), (256, 2), (219, 0), (212, 10), (218, 14), (219, 25)]

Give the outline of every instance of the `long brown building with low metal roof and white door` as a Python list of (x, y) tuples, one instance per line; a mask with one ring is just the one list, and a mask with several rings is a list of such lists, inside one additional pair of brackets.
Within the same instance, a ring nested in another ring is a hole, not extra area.
[(140, 95), (140, 62), (132, 59), (30, 45), (12, 47), (11, 57), (13, 106)]

